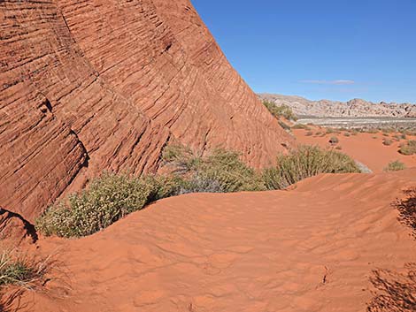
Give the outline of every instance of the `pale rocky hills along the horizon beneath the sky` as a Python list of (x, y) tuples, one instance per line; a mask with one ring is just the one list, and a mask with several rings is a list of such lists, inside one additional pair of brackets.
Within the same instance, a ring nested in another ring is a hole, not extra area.
[(260, 94), (258, 96), (262, 100), (278, 105), (289, 105), (300, 116), (416, 118), (416, 105), (411, 103), (371, 103), (361, 99), (344, 103), (328, 100), (311, 101), (291, 95)]

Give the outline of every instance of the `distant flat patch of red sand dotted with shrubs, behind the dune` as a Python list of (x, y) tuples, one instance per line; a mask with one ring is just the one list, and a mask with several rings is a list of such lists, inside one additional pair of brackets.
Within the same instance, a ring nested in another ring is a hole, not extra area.
[[(324, 129), (313, 128), (312, 133), (325, 132)], [(396, 160), (406, 164), (408, 168), (416, 167), (416, 155), (404, 156), (398, 152), (400, 143), (393, 139), (395, 133), (385, 137), (382, 133), (358, 133), (349, 137), (343, 134), (328, 133), (325, 136), (307, 136), (308, 131), (298, 129), (294, 131), (297, 141), (303, 144), (319, 145), (323, 148), (330, 148), (329, 139), (333, 136), (339, 139), (337, 146), (342, 147), (341, 152), (350, 155), (362, 164), (366, 164), (374, 172), (381, 172), (390, 163)], [(375, 139), (374, 139), (375, 138)], [(390, 139), (393, 144), (383, 145), (383, 139)], [(408, 136), (407, 140), (416, 140), (416, 137)]]

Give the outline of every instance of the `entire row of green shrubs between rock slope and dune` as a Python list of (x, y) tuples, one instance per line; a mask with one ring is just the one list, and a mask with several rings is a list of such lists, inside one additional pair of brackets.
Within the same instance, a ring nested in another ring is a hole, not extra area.
[(198, 156), (182, 146), (166, 147), (162, 160), (165, 176), (105, 172), (89, 187), (50, 206), (36, 220), (46, 236), (88, 236), (150, 202), (189, 193), (231, 193), (281, 189), (323, 172), (358, 172), (349, 157), (332, 150), (303, 146), (289, 156), (278, 156), (277, 166), (258, 172), (244, 164), (240, 154), (217, 149)]

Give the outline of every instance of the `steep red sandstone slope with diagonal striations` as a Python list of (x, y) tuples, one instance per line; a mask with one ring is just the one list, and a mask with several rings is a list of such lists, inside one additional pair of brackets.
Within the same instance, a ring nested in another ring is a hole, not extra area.
[(0, 2), (0, 205), (34, 218), (175, 138), (268, 164), (291, 139), (188, 0)]

